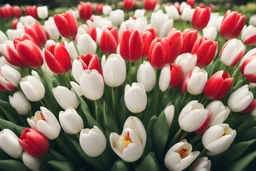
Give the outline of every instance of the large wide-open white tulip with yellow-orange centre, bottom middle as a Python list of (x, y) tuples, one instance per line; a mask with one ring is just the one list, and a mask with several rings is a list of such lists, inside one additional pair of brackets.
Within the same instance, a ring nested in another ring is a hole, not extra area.
[(121, 135), (110, 134), (110, 144), (113, 151), (125, 162), (135, 162), (143, 154), (146, 145), (146, 130), (142, 122), (130, 116), (124, 123)]

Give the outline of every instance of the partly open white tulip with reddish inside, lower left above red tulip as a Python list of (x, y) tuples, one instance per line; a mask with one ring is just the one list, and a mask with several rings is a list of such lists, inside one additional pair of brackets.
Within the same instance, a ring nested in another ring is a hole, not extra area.
[(54, 114), (46, 109), (40, 107), (41, 111), (37, 111), (35, 115), (28, 118), (28, 124), (31, 128), (41, 132), (44, 136), (53, 140), (60, 134), (60, 124)]

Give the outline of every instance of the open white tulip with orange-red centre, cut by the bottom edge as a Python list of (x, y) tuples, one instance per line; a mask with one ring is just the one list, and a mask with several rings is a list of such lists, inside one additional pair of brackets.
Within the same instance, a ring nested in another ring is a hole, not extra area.
[(192, 152), (192, 145), (186, 140), (174, 144), (166, 153), (165, 166), (169, 170), (184, 170), (196, 160), (199, 151)]

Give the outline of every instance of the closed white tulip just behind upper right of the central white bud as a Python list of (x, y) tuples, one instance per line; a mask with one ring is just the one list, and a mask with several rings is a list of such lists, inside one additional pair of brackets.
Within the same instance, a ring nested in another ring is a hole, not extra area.
[[(150, 75), (150, 77), (148, 77)], [(153, 90), (156, 83), (156, 72), (149, 62), (140, 64), (137, 72), (137, 82), (143, 84), (146, 92)]]

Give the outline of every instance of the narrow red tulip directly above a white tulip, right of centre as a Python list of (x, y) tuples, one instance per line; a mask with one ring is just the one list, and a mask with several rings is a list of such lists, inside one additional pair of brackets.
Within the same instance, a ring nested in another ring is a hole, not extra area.
[(182, 33), (183, 46), (181, 53), (190, 53), (198, 36), (198, 32), (193, 29), (186, 29)]

